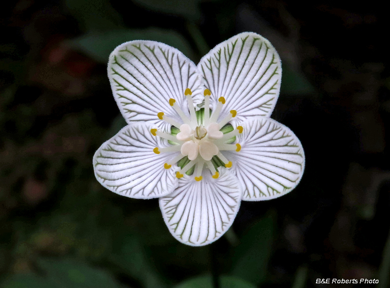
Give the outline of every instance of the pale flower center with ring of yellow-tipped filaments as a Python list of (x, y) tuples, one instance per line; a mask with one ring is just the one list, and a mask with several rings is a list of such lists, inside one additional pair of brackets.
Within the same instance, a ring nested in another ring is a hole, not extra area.
[(225, 98), (220, 97), (218, 99), (217, 107), (210, 116), (209, 107), (211, 92), (210, 90), (206, 89), (204, 91), (204, 121), (203, 123), (198, 123), (196, 119), (194, 103), (191, 98), (191, 90), (187, 88), (184, 92), (184, 95), (187, 97), (191, 115), (190, 119), (188, 119), (188, 117), (176, 104), (175, 99), (169, 99), (170, 105), (173, 106), (176, 113), (180, 116), (183, 124), (180, 124), (176, 122), (176, 120), (165, 116), (163, 112), (157, 114), (159, 119), (162, 119), (175, 126), (180, 130), (180, 132), (175, 136), (157, 131), (157, 129), (151, 130), (153, 135), (160, 136), (177, 144), (165, 148), (156, 147), (153, 151), (156, 154), (180, 151), (180, 153), (173, 157), (171, 161), (164, 164), (165, 169), (170, 169), (173, 164), (182, 160), (186, 156), (188, 157), (189, 161), (184, 166), (182, 166), (179, 171), (176, 172), (177, 178), (183, 177), (184, 173), (187, 173), (190, 171), (190, 169), (195, 168), (195, 180), (200, 181), (202, 179), (202, 170), (205, 165), (213, 174), (213, 178), (218, 178), (219, 173), (217, 168), (219, 166), (224, 165), (227, 168), (232, 167), (232, 162), (229, 161), (221, 153), (221, 151), (235, 150), (238, 152), (241, 149), (241, 146), (238, 143), (226, 143), (232, 139), (232, 137), (242, 133), (243, 128), (241, 126), (237, 126), (235, 130), (225, 134), (221, 132), (221, 129), (224, 127), (224, 125), (226, 125), (233, 117), (235, 117), (237, 113), (235, 110), (232, 110), (219, 123), (217, 123), (222, 105), (225, 104)]

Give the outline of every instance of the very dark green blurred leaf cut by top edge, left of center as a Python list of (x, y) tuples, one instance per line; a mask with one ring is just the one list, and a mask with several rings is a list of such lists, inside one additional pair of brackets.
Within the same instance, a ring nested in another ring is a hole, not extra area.
[(123, 19), (108, 0), (65, 0), (65, 5), (85, 31), (123, 27)]

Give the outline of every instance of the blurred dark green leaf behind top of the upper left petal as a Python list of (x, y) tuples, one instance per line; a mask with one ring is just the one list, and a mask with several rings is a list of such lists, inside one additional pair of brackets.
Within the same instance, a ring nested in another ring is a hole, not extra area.
[(112, 30), (91, 32), (68, 41), (72, 48), (80, 50), (101, 63), (107, 63), (110, 53), (120, 44), (132, 40), (153, 40), (165, 43), (180, 50), (188, 58), (193, 58), (193, 50), (186, 39), (173, 30), (159, 28)]

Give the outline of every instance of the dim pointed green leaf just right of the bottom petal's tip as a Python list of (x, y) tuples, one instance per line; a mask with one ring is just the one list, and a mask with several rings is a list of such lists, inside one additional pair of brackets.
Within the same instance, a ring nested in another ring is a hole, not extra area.
[(272, 250), (273, 227), (270, 213), (243, 233), (241, 244), (233, 249), (233, 275), (256, 285), (264, 281)]

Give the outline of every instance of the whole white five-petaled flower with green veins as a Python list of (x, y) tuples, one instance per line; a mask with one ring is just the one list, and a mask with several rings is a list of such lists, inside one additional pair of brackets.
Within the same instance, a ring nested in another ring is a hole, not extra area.
[(180, 242), (215, 241), (241, 200), (276, 198), (300, 181), (301, 143), (269, 118), (281, 64), (260, 35), (238, 34), (197, 66), (168, 45), (130, 41), (111, 54), (108, 76), (128, 125), (96, 152), (95, 175), (118, 194), (159, 197)]

